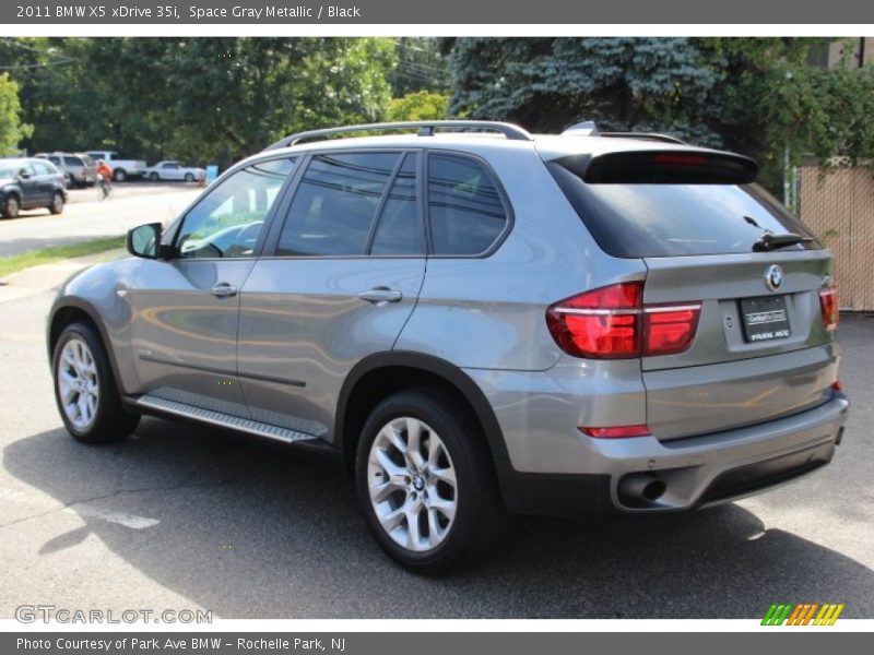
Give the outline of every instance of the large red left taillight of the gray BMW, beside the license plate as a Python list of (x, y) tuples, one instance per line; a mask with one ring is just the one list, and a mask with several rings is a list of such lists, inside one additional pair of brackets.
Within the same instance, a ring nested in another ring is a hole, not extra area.
[(624, 282), (559, 300), (546, 324), (569, 355), (627, 359), (687, 350), (700, 313), (700, 302), (643, 305), (643, 283)]

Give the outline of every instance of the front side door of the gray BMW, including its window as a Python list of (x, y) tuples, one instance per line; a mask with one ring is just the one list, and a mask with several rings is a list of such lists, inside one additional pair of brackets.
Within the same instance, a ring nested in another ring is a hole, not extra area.
[(145, 393), (247, 416), (237, 380), (239, 290), (293, 167), (272, 159), (226, 177), (170, 230), (176, 259), (138, 269), (131, 337)]

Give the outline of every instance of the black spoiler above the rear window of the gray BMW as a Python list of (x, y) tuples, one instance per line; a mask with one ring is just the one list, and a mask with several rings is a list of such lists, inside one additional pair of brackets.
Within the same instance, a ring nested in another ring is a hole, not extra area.
[(554, 159), (591, 184), (748, 184), (758, 164), (719, 151), (647, 150)]

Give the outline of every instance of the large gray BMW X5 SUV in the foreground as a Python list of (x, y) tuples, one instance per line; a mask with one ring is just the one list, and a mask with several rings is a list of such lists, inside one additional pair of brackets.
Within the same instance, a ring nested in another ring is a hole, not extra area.
[(61, 417), (87, 443), (157, 414), (338, 450), (427, 573), (507, 509), (760, 491), (830, 461), (848, 402), (829, 252), (755, 176), (591, 127), (286, 138), (60, 290)]

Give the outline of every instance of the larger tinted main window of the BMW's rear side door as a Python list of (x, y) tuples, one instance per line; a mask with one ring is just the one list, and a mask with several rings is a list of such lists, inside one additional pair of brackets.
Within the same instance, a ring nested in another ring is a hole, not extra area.
[(399, 157), (399, 153), (314, 156), (288, 210), (276, 254), (364, 254)]

